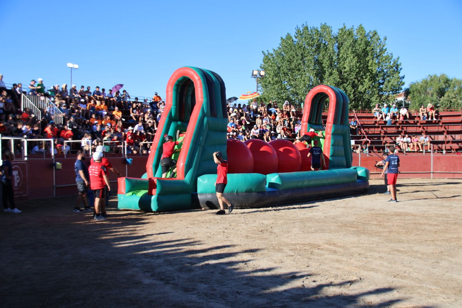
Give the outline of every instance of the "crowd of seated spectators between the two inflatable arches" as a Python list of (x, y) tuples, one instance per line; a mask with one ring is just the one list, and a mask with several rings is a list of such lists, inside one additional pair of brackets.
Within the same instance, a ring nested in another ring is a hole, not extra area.
[(228, 109), (227, 139), (295, 139), (300, 137), (301, 119), (288, 101), (281, 108), (276, 101), (264, 103), (254, 98), (249, 104), (231, 102)]

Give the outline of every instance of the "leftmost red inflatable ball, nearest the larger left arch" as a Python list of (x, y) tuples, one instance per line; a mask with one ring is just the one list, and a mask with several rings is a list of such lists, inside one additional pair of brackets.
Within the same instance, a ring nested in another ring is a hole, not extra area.
[(228, 139), (226, 141), (226, 154), (228, 157), (228, 173), (254, 172), (254, 157), (247, 145), (242, 141)]

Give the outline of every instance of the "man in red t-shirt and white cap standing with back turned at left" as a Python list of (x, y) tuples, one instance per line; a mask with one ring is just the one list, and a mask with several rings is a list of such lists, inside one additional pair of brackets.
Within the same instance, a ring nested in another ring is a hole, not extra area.
[(106, 220), (106, 217), (101, 215), (101, 212), (106, 212), (105, 200), (111, 187), (109, 185), (109, 177), (106, 167), (101, 163), (103, 153), (93, 153), (93, 163), (88, 168), (90, 174), (90, 188), (95, 196), (95, 220)]

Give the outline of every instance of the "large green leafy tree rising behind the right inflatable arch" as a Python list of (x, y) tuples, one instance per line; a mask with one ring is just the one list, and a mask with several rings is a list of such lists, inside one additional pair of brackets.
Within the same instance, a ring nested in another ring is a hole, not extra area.
[(387, 52), (385, 42), (386, 37), (381, 39), (375, 30), (366, 32), (362, 25), (343, 25), (337, 33), (327, 24), (302, 25), (294, 36), (281, 37), (278, 48), (263, 52), (265, 78), (259, 86), (264, 97), (299, 106), (322, 84), (345, 91), (352, 109), (389, 102), (401, 91), (404, 76), (399, 58)]

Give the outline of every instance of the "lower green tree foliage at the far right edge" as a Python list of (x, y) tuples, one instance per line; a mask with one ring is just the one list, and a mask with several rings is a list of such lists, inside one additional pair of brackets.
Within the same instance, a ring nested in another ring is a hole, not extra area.
[(419, 109), (420, 105), (432, 103), (439, 108), (462, 108), (462, 79), (449, 78), (445, 74), (428, 75), (414, 82), (407, 90), (409, 109)]

